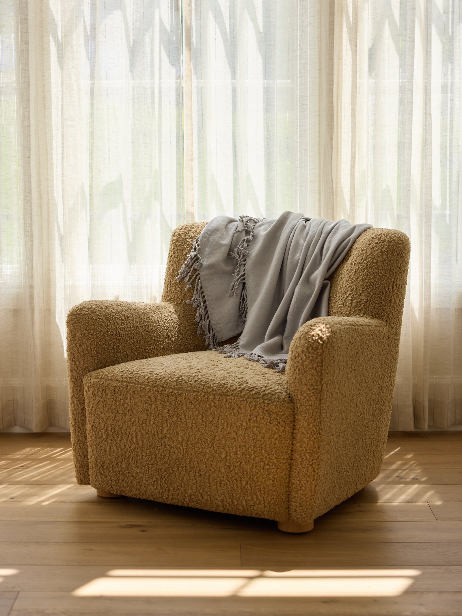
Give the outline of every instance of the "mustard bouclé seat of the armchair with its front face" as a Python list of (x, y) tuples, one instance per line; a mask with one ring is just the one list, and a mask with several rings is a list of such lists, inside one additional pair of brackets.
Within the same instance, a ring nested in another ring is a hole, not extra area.
[(94, 487), (288, 516), (293, 402), (284, 374), (199, 351), (94, 371), (84, 391)]

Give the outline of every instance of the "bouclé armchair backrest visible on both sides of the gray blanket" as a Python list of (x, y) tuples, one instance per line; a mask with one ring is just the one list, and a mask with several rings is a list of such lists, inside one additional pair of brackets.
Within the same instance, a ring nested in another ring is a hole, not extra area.
[[(177, 227), (172, 233), (162, 301), (184, 304), (192, 298), (176, 277), (205, 222)], [(395, 229), (368, 229), (330, 277), (329, 314), (372, 317), (400, 330), (410, 241)], [(190, 312), (191, 318), (194, 311)]]

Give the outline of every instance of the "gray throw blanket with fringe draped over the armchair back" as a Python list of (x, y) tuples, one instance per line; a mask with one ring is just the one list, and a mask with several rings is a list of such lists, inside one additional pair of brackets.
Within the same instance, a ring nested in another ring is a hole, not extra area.
[[(328, 315), (328, 278), (371, 225), (285, 212), (273, 220), (217, 216), (177, 280), (194, 288), (198, 334), (225, 357), (285, 370), (296, 331)], [(219, 342), (239, 336), (234, 344)]]

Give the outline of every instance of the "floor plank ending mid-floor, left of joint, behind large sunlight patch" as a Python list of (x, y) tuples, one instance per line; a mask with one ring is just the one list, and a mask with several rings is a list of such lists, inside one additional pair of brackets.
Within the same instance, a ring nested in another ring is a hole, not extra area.
[(14, 541), (1, 545), (0, 565), (108, 565), (238, 567), (238, 543), (190, 537), (159, 543), (57, 543)]

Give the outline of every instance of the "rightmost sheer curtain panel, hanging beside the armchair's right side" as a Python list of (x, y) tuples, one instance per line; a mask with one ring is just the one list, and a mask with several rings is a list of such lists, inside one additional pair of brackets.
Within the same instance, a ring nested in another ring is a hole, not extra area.
[(336, 216), (411, 238), (392, 427), (462, 424), (462, 4), (336, 3)]

